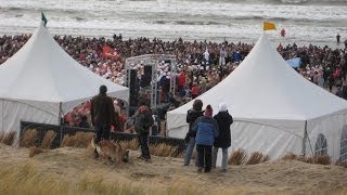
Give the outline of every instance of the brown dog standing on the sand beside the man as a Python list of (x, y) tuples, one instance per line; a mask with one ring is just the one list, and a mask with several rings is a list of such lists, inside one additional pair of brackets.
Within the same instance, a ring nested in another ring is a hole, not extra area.
[(117, 142), (110, 140), (102, 140), (99, 144), (95, 143), (95, 136), (91, 140), (91, 146), (97, 150), (99, 158), (110, 159), (111, 161), (116, 161), (117, 164), (121, 161), (128, 162), (129, 151), (123, 150), (121, 145)]

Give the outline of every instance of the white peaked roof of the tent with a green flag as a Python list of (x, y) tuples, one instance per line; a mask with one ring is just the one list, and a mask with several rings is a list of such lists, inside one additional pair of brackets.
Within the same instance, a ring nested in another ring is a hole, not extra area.
[(98, 94), (128, 100), (128, 88), (113, 83), (69, 56), (41, 24), (31, 38), (0, 66), (0, 98), (62, 103), (66, 109)]

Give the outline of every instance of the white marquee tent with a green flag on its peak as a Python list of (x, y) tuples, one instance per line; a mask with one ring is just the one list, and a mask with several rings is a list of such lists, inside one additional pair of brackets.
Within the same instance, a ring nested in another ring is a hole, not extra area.
[(31, 38), (0, 65), (0, 132), (20, 122), (59, 125), (60, 115), (99, 93), (128, 101), (128, 88), (113, 83), (69, 56), (41, 24)]

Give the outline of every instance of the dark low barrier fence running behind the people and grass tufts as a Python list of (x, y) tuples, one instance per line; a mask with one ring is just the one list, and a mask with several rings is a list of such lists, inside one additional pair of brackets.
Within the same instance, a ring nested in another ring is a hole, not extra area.
[[(75, 135), (77, 132), (92, 132), (94, 133), (94, 129), (85, 129), (69, 126), (55, 126), (55, 125), (47, 125), (47, 123), (37, 123), (29, 121), (21, 121), (21, 133), (20, 138), (22, 140), (23, 133), (28, 129), (36, 129), (37, 138), (35, 141), (35, 145), (39, 146), (46, 135), (46, 133), (50, 130), (54, 131), (57, 135), (52, 141), (51, 147), (56, 148), (61, 146), (64, 135)], [(111, 139), (115, 141), (131, 141), (137, 139), (137, 134), (130, 133), (119, 133), (112, 132)], [(165, 136), (149, 136), (149, 144), (167, 144), (171, 146), (177, 146), (177, 151), (175, 153), (179, 154), (184, 151), (185, 144), (183, 139), (175, 139), (175, 138), (165, 138)]]

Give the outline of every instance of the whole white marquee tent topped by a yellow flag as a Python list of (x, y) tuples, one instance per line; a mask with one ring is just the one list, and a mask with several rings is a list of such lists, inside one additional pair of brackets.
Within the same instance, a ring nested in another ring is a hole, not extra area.
[[(347, 101), (297, 74), (265, 32), (240, 66), (198, 99), (204, 107), (210, 104), (214, 114), (219, 103), (228, 105), (234, 118), (233, 150), (261, 152), (271, 159), (290, 152), (325, 153), (338, 159), (342, 140), (347, 139), (342, 138), (347, 129)], [(168, 136), (184, 138), (192, 104), (168, 112)]]

